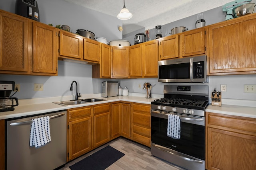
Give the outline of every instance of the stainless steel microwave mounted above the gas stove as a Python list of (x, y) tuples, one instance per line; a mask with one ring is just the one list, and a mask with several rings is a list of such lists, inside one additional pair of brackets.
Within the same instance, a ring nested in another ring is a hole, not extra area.
[(209, 82), (206, 55), (158, 61), (158, 82)]

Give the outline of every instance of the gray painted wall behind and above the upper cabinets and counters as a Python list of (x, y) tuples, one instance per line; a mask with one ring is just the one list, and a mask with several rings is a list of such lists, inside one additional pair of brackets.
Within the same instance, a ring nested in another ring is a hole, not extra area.
[[(0, 8), (2, 10), (14, 13), (14, 6), (15, 0), (0, 1)], [(43, 23), (70, 25), (72, 31), (76, 31), (76, 29), (88, 29), (93, 31), (98, 37), (106, 37), (108, 41), (122, 39), (122, 33), (118, 31), (118, 26), (122, 24), (122, 21), (115, 17), (106, 16), (93, 10), (69, 4), (63, 0), (41, 0), (38, 2), (38, 6), (40, 8), (40, 21)], [(221, 7), (204, 12), (206, 25), (224, 20), (224, 14), (220, 9)], [(163, 35), (169, 35), (170, 29), (176, 26), (185, 26), (189, 30), (194, 29), (195, 21), (196, 15), (163, 25)], [(144, 29), (140, 29), (134, 33), (130, 33), (124, 39), (134, 44), (135, 34), (144, 31)], [(150, 31), (150, 37), (154, 39), (154, 29)], [(227, 92), (222, 92), (222, 98), (256, 100), (255, 93), (244, 93), (244, 84), (256, 84), (256, 74), (210, 76), (209, 79), (209, 91), (212, 91), (214, 88), (220, 90), (220, 84), (227, 84)], [(101, 93), (101, 82), (106, 79), (93, 79), (91, 65), (58, 61), (58, 76), (0, 74), (0, 80), (13, 80), (20, 84), (21, 90), (14, 97), (26, 99), (74, 95), (74, 92), (69, 91), (73, 80), (78, 82), (78, 92), (81, 94)], [(129, 92), (135, 93), (145, 93), (142, 88), (138, 88), (138, 85), (141, 84), (143, 86), (145, 82), (150, 82), (153, 85), (153, 97), (154, 94), (163, 94), (164, 83), (158, 82), (157, 78), (120, 79), (118, 81), (122, 88), (126, 86)], [(34, 83), (43, 83), (44, 91), (34, 92)]]

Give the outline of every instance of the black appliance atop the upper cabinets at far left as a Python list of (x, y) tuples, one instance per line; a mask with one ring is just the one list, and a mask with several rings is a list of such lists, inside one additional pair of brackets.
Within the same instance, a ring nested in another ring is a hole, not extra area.
[(16, 0), (15, 13), (39, 21), (39, 9), (36, 0)]

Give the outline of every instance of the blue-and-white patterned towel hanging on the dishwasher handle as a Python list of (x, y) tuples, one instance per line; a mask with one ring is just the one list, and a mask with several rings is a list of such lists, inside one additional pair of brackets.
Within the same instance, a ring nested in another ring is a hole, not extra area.
[(30, 130), (30, 147), (41, 147), (51, 141), (50, 117), (38, 117), (32, 119)]

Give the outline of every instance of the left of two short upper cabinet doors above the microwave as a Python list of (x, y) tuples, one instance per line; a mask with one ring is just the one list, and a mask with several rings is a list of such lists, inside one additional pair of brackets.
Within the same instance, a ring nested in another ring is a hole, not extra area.
[(159, 60), (179, 58), (179, 35), (171, 35), (160, 39)]

